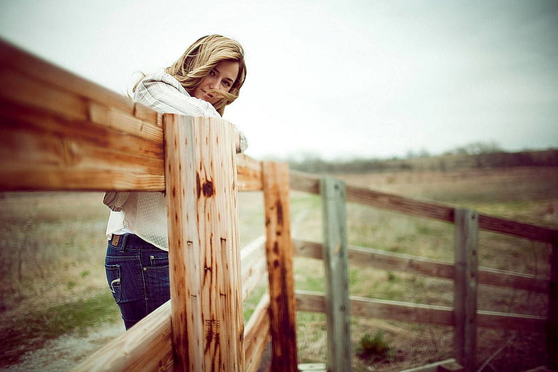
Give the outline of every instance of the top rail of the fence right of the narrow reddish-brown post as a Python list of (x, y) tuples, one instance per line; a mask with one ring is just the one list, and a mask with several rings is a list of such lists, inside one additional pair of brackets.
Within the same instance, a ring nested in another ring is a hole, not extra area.
[[(291, 188), (307, 193), (319, 193), (319, 178), (304, 172), (291, 172)], [(439, 221), (453, 223), (453, 207), (433, 201), (407, 198), (393, 193), (384, 193), (358, 186), (347, 185), (347, 202), (357, 202), (391, 211), (398, 211), (410, 216), (435, 218)], [(520, 223), (479, 214), (478, 227), (482, 230), (500, 232), (515, 237), (552, 242), (558, 236), (557, 229), (543, 228), (529, 223)]]

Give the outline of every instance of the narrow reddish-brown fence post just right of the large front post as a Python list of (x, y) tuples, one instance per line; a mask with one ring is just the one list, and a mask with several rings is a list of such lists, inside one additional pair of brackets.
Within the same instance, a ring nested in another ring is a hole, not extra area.
[(262, 184), (273, 349), (271, 370), (296, 372), (296, 308), (287, 163), (262, 162)]

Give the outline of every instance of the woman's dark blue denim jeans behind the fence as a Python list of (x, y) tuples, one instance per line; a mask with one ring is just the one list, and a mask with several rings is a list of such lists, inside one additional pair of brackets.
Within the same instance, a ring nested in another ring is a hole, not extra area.
[(170, 299), (169, 253), (133, 234), (115, 240), (109, 241), (105, 269), (109, 289), (129, 329)]

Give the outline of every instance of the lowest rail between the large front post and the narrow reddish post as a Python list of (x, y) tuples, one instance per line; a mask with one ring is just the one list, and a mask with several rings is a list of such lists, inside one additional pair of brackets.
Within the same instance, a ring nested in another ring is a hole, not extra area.
[(266, 345), (270, 339), (269, 334), (269, 293), (262, 296), (259, 300), (254, 313), (246, 322), (244, 345), (246, 350), (246, 372), (258, 370), (259, 363)]

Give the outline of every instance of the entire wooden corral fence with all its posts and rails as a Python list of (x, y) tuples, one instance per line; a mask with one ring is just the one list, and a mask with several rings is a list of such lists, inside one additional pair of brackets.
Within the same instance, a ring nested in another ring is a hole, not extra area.
[[(466, 371), (477, 327), (545, 329), (548, 366), (558, 365), (557, 230), (235, 155), (227, 121), (160, 114), (4, 42), (0, 82), (1, 190), (167, 196), (171, 300), (77, 370), (257, 371), (271, 339), (271, 369), (297, 371), (296, 311), (326, 313), (331, 371), (351, 369), (351, 315), (453, 326), (455, 358)], [(289, 190), (322, 195), (322, 243), (292, 239)], [(264, 193), (266, 238), (243, 249), (239, 191)], [(347, 246), (345, 202), (453, 223), (455, 262)], [(479, 229), (550, 244), (550, 278), (479, 268)], [(326, 293), (294, 290), (294, 254), (324, 260)], [(451, 279), (454, 306), (349, 297), (348, 264)], [(243, 299), (266, 276), (268, 290), (245, 326)], [(548, 317), (478, 310), (479, 283), (549, 291)]]

